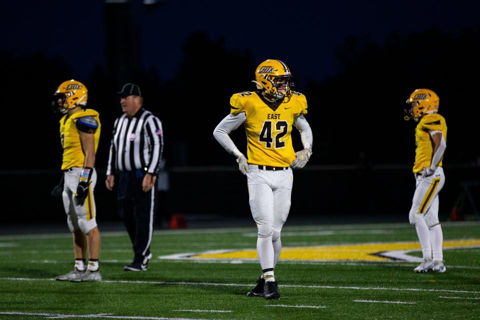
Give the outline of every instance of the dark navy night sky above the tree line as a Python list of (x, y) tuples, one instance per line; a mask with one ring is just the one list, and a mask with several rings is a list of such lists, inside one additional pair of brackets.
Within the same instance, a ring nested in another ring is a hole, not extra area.
[[(479, 2), (462, 0), (164, 2), (147, 14), (140, 0), (132, 1), (142, 63), (157, 66), (161, 81), (174, 76), (180, 46), (193, 31), (221, 37), (229, 49), (250, 50), (256, 62), (282, 59), (300, 79), (318, 81), (337, 71), (335, 48), (348, 35), (381, 42), (393, 31), (458, 32), (477, 25), (480, 12)], [(72, 77), (84, 79), (95, 64), (104, 65), (103, 6), (101, 0), (4, 1), (0, 49), (61, 56)]]

